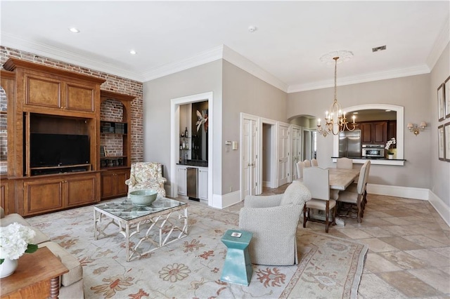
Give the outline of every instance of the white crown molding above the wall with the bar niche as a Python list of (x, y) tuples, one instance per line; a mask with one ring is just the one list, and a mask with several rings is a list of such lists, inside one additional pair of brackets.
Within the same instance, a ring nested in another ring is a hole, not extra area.
[(150, 69), (150, 71), (143, 73), (143, 80), (150, 81), (153, 79), (158, 79), (169, 74), (190, 69), (191, 67), (197, 67), (198, 65), (204, 65), (205, 63), (219, 60), (222, 56), (223, 46), (217, 46), (190, 58), (167, 63), (165, 65), (161, 65), (160, 67), (154, 67), (153, 69)]

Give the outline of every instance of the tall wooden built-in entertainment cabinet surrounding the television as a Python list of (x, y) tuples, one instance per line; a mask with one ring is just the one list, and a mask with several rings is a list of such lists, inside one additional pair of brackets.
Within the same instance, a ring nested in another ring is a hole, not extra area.
[[(1, 81), (8, 98), (7, 178), (13, 190), (8, 213), (37, 215), (100, 201), (100, 85), (105, 80), (15, 58), (4, 69), (13, 74)], [(89, 161), (32, 166), (33, 133), (85, 135)]]

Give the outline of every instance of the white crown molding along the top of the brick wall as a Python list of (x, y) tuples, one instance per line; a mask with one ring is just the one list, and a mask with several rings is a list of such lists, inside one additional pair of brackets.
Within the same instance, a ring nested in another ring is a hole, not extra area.
[(27, 41), (13, 34), (1, 33), (1, 45), (8, 48), (16, 48), (21, 51), (27, 51), (46, 58), (60, 60), (63, 62), (78, 65), (80, 67), (88, 67), (96, 69), (99, 72), (114, 74), (115, 76), (124, 77), (139, 82), (143, 81), (143, 77), (136, 72), (129, 72), (123, 68), (115, 67), (101, 60), (86, 58), (83, 55), (63, 50), (57, 47), (41, 44), (35, 41)]

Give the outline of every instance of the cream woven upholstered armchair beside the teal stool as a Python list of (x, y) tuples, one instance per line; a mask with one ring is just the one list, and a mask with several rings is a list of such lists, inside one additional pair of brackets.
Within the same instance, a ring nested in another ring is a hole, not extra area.
[(253, 233), (249, 250), (252, 263), (298, 263), (297, 226), (311, 192), (302, 182), (289, 185), (284, 194), (245, 197), (239, 212), (239, 228)]

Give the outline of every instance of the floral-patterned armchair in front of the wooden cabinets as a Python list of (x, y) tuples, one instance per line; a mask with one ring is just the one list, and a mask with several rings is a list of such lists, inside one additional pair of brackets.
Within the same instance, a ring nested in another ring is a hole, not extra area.
[(129, 179), (125, 181), (129, 193), (135, 190), (152, 189), (158, 192), (158, 197), (165, 197), (164, 184), (166, 178), (162, 177), (162, 165), (157, 162), (138, 162), (131, 164)]

